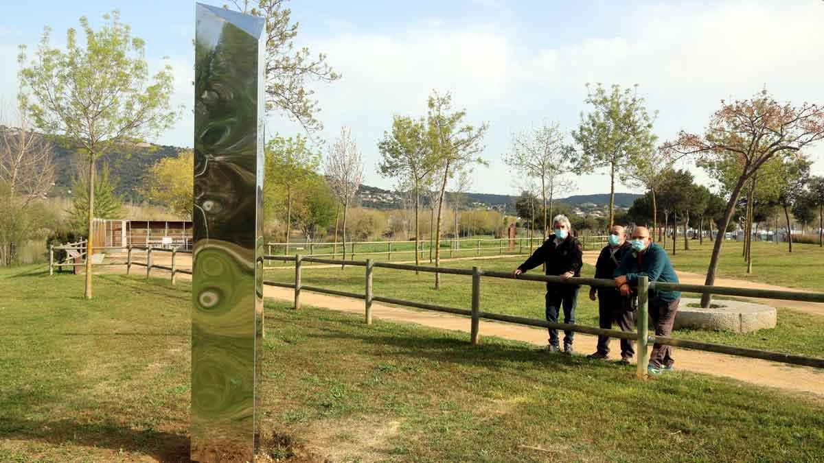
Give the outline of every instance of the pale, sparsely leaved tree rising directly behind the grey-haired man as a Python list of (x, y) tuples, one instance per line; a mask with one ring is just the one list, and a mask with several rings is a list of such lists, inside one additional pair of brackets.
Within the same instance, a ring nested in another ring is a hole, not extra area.
[[(530, 132), (513, 133), (512, 145), (503, 161), (513, 169), (524, 175), (536, 178), (541, 185), (541, 200), (544, 210), (544, 223), (548, 221), (547, 213), (552, 216), (552, 200), (555, 189), (566, 185), (559, 185), (562, 175), (571, 171), (569, 162), (570, 152), (573, 151), (564, 143), (566, 135), (559, 129), (558, 123), (541, 124)], [(549, 211), (546, 208), (546, 199), (549, 196)], [(546, 239), (546, 227), (544, 227)]]

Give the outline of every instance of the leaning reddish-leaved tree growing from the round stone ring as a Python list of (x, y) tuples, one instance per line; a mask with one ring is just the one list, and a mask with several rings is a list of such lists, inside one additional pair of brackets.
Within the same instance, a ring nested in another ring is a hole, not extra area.
[[(721, 109), (709, 120), (703, 136), (681, 131), (676, 142), (668, 146), (677, 152), (700, 155), (704, 166), (740, 166), (724, 212), (723, 226), (719, 227), (726, 229), (742, 189), (766, 161), (774, 157), (794, 157), (803, 147), (822, 138), (824, 107), (809, 103), (780, 104), (764, 90), (749, 100), (732, 103), (722, 100)], [(705, 280), (708, 286), (715, 283), (722, 245), (723, 240), (716, 240), (713, 246)], [(701, 306), (709, 307), (710, 300), (711, 295), (705, 292)]]

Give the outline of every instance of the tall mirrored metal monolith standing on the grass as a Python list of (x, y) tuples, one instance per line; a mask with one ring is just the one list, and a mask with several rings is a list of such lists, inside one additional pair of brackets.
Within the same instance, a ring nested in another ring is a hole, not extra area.
[(264, 21), (196, 6), (193, 461), (253, 461), (263, 316)]

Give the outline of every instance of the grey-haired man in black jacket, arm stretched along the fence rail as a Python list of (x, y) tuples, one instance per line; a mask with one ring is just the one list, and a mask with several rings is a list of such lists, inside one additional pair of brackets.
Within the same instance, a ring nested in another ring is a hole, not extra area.
[[(555, 235), (544, 241), (523, 264), (513, 271), (513, 276), (523, 274), (529, 269), (545, 264), (545, 274), (567, 279), (581, 276), (581, 244), (570, 235), (569, 218), (557, 215), (552, 219)], [(546, 283), (546, 320), (558, 323), (558, 310), (564, 308), (564, 323), (574, 325), (575, 305), (578, 303), (578, 285)], [(549, 352), (558, 352), (558, 330), (550, 329)], [(574, 332), (564, 331), (564, 353), (573, 353)]]

